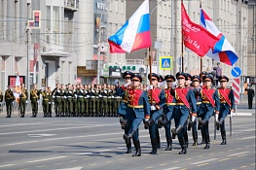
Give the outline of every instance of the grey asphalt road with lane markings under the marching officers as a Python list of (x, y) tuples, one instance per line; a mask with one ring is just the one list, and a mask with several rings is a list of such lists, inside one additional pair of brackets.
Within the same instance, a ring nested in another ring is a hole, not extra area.
[[(244, 106), (243, 106), (244, 105)], [(120, 170), (120, 169), (255, 169), (255, 108), (238, 106), (232, 118), (226, 119), (227, 145), (221, 146), (220, 131), (213, 141), (213, 118), (210, 119), (209, 150), (193, 147), (191, 132), (188, 153), (178, 154), (178, 140), (173, 150), (165, 151), (165, 129), (161, 129), (162, 148), (151, 155), (148, 130), (140, 127), (142, 155), (126, 153), (118, 118), (30, 118), (18, 115), (6, 119), (0, 114), (0, 169), (4, 170)], [(201, 142), (201, 133), (199, 136)], [(132, 153), (134, 153), (132, 145)]]

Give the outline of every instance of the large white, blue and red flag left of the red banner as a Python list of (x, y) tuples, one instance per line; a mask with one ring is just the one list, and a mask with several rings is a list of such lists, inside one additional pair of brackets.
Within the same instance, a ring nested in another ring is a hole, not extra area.
[(108, 39), (110, 52), (130, 52), (151, 47), (149, 0), (145, 0), (118, 32)]

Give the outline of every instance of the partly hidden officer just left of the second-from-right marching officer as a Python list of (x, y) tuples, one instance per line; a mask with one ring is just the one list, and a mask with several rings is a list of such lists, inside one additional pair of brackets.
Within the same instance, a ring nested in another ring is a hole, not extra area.
[[(201, 77), (195, 75), (192, 77), (193, 93), (197, 99), (197, 114), (199, 113), (199, 108), (201, 105)], [(198, 146), (198, 128), (197, 128), (197, 117), (192, 116), (189, 119), (188, 130), (192, 128), (192, 137), (194, 140), (193, 146)]]

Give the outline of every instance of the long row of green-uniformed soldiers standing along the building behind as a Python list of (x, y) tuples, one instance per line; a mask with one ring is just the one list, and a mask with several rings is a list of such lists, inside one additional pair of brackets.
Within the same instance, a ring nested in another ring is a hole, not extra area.
[[(106, 84), (56, 84), (54, 90), (50, 86), (41, 90), (34, 84), (30, 95), (28, 95), (24, 84), (21, 84), (18, 113), (20, 118), (24, 118), (25, 107), (30, 96), (33, 118), (37, 117), (40, 98), (42, 99), (44, 117), (52, 117), (52, 110), (55, 111), (55, 117), (118, 117), (117, 111), (122, 98), (116, 95), (116, 88), (117, 85)], [(8, 85), (4, 97), (0, 91), (0, 102), (3, 101), (3, 98), (6, 102), (7, 118), (11, 118), (13, 104), (16, 100), (11, 85)]]

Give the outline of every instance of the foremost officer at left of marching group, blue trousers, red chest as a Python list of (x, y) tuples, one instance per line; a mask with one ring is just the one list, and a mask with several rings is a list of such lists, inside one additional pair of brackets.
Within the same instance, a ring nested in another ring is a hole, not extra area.
[[(131, 87), (127, 88), (128, 108), (126, 118), (128, 119), (128, 134), (124, 134), (123, 138), (128, 144), (132, 138), (136, 153), (132, 156), (140, 156), (140, 142), (138, 138), (138, 127), (142, 120), (148, 121), (150, 119), (150, 104), (148, 101), (147, 91), (141, 89), (140, 84), (142, 78), (139, 74), (132, 74), (130, 76)], [(125, 93), (123, 93), (125, 95)]]

